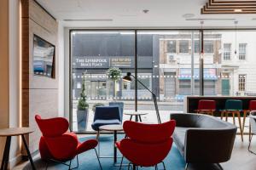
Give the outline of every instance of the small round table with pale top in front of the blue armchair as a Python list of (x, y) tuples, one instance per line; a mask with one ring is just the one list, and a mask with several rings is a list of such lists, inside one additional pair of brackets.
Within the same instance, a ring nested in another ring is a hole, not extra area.
[(117, 162), (117, 148), (115, 146), (115, 143), (117, 141), (117, 132), (123, 131), (123, 126), (122, 125), (104, 125), (99, 127), (99, 129), (113, 132), (113, 163), (115, 164)]

